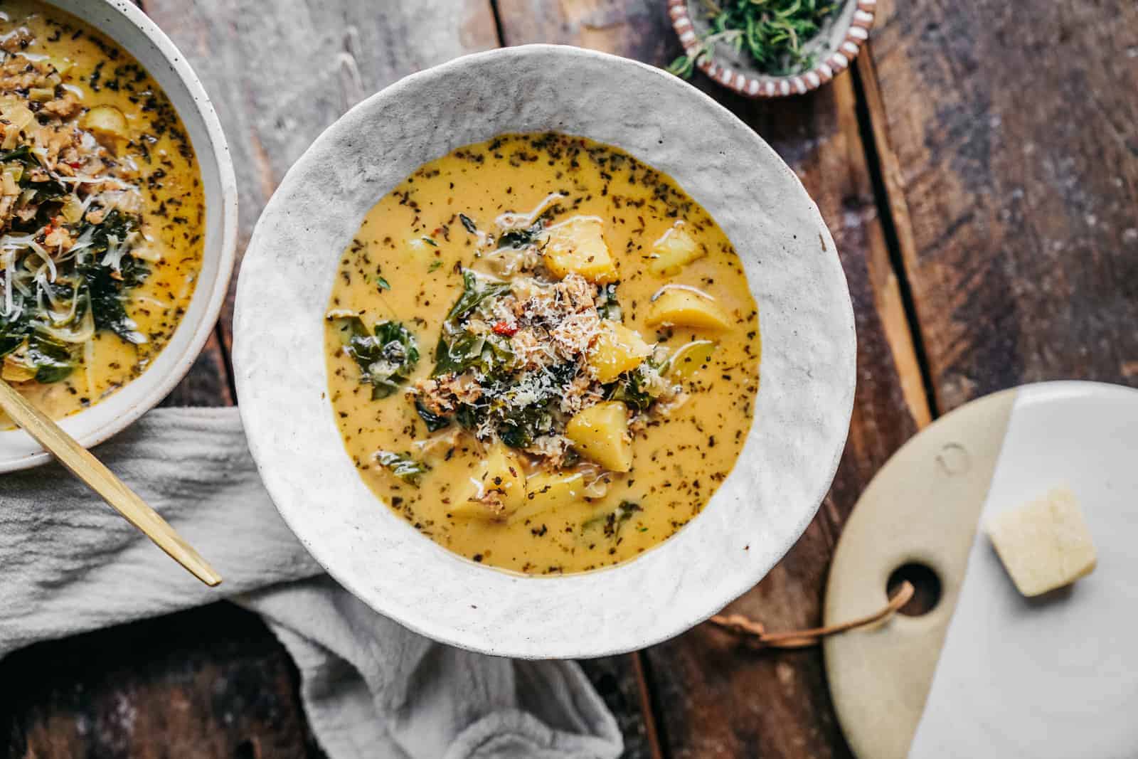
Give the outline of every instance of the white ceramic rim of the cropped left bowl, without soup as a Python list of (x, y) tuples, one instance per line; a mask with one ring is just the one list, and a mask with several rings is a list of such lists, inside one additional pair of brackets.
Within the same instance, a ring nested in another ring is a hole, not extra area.
[[(157, 360), (141, 377), (60, 424), (84, 447), (119, 432), (152, 409), (193, 365), (217, 322), (237, 247), (237, 180), (221, 123), (198, 77), (162, 30), (127, 0), (49, 0), (77, 16), (134, 56), (166, 91), (190, 134), (201, 167), (206, 239), (201, 273), (190, 307)], [(49, 461), (22, 430), (0, 432), (0, 472)]]

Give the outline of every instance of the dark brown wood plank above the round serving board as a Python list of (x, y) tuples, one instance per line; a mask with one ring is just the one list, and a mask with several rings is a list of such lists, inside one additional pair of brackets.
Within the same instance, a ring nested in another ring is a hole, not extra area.
[[(877, 143), (938, 406), (1138, 385), (1138, 6), (882, 3)], [(902, 223), (904, 222), (904, 223)]]

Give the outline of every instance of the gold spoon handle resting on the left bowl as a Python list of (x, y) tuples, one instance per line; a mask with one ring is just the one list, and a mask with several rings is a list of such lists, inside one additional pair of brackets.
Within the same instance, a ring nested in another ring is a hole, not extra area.
[(185, 567), (199, 580), (213, 587), (221, 583), (218, 575), (193, 547), (182, 539), (157, 511), (146, 504), (101, 461), (92, 456), (75, 438), (63, 431), (43, 412), (30, 404), (14, 387), (0, 379), (0, 409), (17, 424), (51, 452), (71, 473), (102, 496), (126, 521), (142, 530), (155, 545), (171, 559)]

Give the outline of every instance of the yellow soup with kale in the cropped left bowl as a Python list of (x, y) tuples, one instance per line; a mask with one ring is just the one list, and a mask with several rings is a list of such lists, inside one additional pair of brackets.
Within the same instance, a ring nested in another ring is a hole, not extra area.
[(0, 371), (60, 418), (139, 377), (173, 336), (205, 200), (178, 114), (114, 41), (8, 0), (0, 51)]

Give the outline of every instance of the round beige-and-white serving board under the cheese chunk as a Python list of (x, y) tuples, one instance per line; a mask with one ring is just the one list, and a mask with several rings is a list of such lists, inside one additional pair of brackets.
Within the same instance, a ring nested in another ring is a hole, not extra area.
[[(1135, 756), (1136, 452), (1138, 390), (1065, 381), (974, 401), (893, 455), (838, 544), (825, 624), (880, 609), (909, 562), (937, 574), (941, 597), (825, 642), (860, 759)], [(983, 523), (1058, 485), (1079, 497), (1098, 567), (1024, 599)]]

